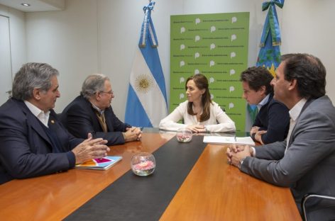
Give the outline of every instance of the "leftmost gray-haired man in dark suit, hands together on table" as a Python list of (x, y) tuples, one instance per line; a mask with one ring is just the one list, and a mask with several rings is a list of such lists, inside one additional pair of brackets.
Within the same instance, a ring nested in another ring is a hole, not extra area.
[(106, 156), (106, 140), (77, 139), (53, 108), (58, 72), (49, 64), (24, 64), (13, 80), (13, 98), (0, 107), (0, 183), (66, 171)]

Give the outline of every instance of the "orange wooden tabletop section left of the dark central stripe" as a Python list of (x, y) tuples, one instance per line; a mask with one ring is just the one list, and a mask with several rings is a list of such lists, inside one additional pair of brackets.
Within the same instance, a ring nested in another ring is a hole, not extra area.
[(136, 152), (154, 152), (174, 135), (145, 133), (141, 141), (111, 146), (123, 159), (106, 171), (70, 169), (0, 185), (0, 220), (62, 220), (131, 169)]

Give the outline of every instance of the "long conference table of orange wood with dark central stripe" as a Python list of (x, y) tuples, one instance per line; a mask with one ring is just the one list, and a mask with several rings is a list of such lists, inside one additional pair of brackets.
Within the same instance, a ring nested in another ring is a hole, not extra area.
[[(0, 185), (0, 220), (301, 220), (289, 188), (243, 174), (227, 164), (229, 145), (202, 140), (144, 130), (141, 141), (111, 147), (123, 159), (106, 171), (9, 181)], [(137, 152), (155, 156), (150, 176), (132, 173)]]

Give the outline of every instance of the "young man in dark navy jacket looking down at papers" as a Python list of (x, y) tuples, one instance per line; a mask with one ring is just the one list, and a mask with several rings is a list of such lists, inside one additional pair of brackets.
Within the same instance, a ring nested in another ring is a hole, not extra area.
[(241, 73), (243, 98), (259, 111), (250, 135), (262, 145), (285, 140), (290, 124), (287, 107), (273, 99), (272, 79), (265, 67), (249, 67)]

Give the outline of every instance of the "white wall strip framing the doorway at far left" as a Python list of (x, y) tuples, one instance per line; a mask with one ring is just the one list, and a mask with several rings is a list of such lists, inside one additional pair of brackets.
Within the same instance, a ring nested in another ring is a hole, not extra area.
[(21, 65), (26, 63), (27, 60), (25, 13), (0, 4), (0, 14), (9, 17), (11, 65), (12, 74), (14, 75)]

